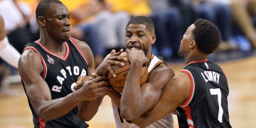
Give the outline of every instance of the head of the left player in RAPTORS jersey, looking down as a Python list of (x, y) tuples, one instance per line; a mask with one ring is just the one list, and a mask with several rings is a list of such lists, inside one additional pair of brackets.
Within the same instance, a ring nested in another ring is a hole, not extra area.
[[(67, 41), (70, 36), (70, 13), (59, 0), (42, 0), (35, 11), (40, 34), (47, 34), (56, 42)], [(42, 32), (41, 32), (42, 31)]]

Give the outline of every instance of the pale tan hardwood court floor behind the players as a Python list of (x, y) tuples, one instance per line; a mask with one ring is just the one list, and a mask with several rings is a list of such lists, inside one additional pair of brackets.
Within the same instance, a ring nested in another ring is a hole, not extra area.
[[(256, 126), (256, 55), (218, 62), (229, 84), (230, 123), (233, 128)], [(178, 74), (183, 63), (168, 64)], [(174, 128), (178, 128), (174, 115)], [(110, 98), (106, 96), (98, 113), (87, 122), (90, 128), (115, 128)], [(0, 128), (33, 128), (32, 114), (21, 85), (5, 86), (0, 92)]]

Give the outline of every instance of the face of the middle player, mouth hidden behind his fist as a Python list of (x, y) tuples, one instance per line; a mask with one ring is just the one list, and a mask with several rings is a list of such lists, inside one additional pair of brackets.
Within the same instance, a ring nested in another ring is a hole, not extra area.
[(143, 24), (130, 24), (126, 27), (126, 47), (128, 49), (143, 50), (145, 55), (151, 52), (151, 46), (154, 44), (156, 36), (146, 29)]

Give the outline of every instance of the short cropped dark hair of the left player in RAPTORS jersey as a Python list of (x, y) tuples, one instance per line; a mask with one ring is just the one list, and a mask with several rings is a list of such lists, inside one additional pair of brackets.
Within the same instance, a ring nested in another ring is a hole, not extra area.
[(49, 10), (49, 8), (50, 8), (50, 4), (52, 4), (52, 3), (63, 4), (59, 0), (42, 0), (38, 4), (38, 7), (36, 7), (36, 10), (35, 10), (36, 19), (39, 16), (45, 16), (45, 14), (47, 13), (47, 10)]

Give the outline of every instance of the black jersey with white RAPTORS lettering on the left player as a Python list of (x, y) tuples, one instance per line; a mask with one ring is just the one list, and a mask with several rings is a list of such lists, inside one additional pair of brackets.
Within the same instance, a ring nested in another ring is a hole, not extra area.
[[(44, 72), (42, 78), (46, 81), (51, 90), (52, 99), (65, 97), (73, 93), (71, 85), (75, 84), (78, 76), (88, 75), (88, 62), (82, 52), (78, 49), (73, 38), (70, 38), (66, 44), (66, 54), (64, 57), (56, 55), (44, 47), (39, 41), (33, 42), (25, 49), (33, 49), (40, 54)], [(24, 88), (26, 93), (26, 88)], [(78, 108), (75, 107), (66, 115), (44, 122), (38, 115), (28, 98), (29, 107), (33, 114), (33, 123), (35, 128), (85, 128), (88, 127), (84, 121), (78, 118)], [(59, 108), (62, 109), (62, 108)]]

